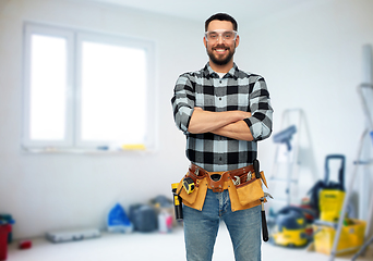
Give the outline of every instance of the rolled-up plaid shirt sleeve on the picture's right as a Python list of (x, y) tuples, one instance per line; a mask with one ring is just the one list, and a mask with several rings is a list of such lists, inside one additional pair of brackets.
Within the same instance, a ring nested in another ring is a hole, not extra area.
[(263, 77), (258, 77), (253, 84), (250, 94), (251, 117), (244, 120), (254, 140), (268, 138), (272, 134), (273, 108), (270, 105), (269, 92)]

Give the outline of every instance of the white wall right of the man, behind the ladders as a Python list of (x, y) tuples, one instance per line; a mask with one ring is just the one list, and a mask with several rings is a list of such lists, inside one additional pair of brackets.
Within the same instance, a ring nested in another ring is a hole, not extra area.
[[(266, 78), (275, 109), (274, 133), (281, 130), (284, 110), (301, 108), (305, 113), (313, 146), (301, 150), (306, 158), (300, 159), (300, 196), (313, 185), (312, 173), (324, 177), (324, 159), (330, 153), (346, 156), (349, 186), (365, 127), (357, 86), (364, 79), (362, 47), (373, 45), (372, 10), (370, 0), (312, 1), (241, 26), (240, 66)], [(260, 145), (260, 156), (270, 172), (272, 139)], [(359, 176), (356, 189), (361, 191), (363, 183), (370, 191), (372, 169), (370, 176)]]

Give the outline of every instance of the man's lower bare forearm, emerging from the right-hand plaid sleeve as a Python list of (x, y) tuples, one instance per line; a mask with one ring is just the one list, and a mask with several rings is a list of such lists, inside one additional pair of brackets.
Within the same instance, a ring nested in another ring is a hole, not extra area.
[(244, 121), (238, 121), (212, 132), (224, 137), (237, 139), (237, 140), (254, 140), (248, 124)]

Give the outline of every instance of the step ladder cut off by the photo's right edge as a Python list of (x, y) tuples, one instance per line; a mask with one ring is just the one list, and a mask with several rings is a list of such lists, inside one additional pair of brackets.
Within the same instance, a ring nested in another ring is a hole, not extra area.
[[(373, 148), (373, 115), (369, 110), (369, 102), (366, 101), (366, 96), (364, 95), (364, 90), (369, 90), (373, 94), (373, 85), (371, 84), (361, 84), (358, 86), (358, 94), (361, 98), (361, 103), (363, 107), (363, 112), (364, 112), (364, 116), (368, 122), (368, 127), (364, 129), (364, 132), (362, 133), (361, 137), (360, 137), (360, 142), (359, 142), (359, 148), (358, 148), (358, 152), (357, 152), (357, 160), (353, 162), (354, 167), (353, 167), (353, 172), (352, 172), (352, 176), (351, 176), (351, 182), (349, 183), (349, 187), (346, 190), (346, 196), (345, 196), (345, 200), (344, 200), (344, 206), (342, 206), (342, 210), (340, 213), (340, 217), (338, 221), (338, 225), (337, 225), (337, 229), (336, 229), (336, 234), (334, 237), (334, 241), (333, 241), (333, 248), (332, 248), (332, 253), (330, 253), (330, 261), (334, 261), (336, 254), (337, 254), (337, 246), (339, 243), (339, 238), (340, 238), (340, 234), (341, 234), (341, 228), (342, 228), (342, 223), (344, 223), (344, 219), (342, 216), (346, 215), (347, 213), (347, 208), (348, 208), (348, 201), (350, 199), (350, 196), (352, 194), (352, 188), (353, 188), (353, 182), (358, 178), (358, 172), (360, 167), (368, 167), (373, 165), (373, 159), (363, 159), (363, 150), (366, 146), (369, 146), (370, 148)], [(366, 142), (366, 139), (370, 139), (371, 142)], [(361, 197), (365, 197), (366, 195), (361, 195)], [(366, 229), (365, 229), (365, 243), (363, 244), (362, 248), (359, 250), (359, 252), (352, 258), (352, 260), (356, 260), (360, 254), (362, 254), (365, 249), (369, 247), (369, 245), (371, 245), (373, 243), (373, 237), (368, 238), (368, 234), (370, 233), (371, 228), (372, 228), (372, 217), (373, 217), (373, 194), (371, 194), (371, 200), (370, 200), (371, 204), (370, 204), (370, 210), (369, 210), (369, 215), (366, 219)]]

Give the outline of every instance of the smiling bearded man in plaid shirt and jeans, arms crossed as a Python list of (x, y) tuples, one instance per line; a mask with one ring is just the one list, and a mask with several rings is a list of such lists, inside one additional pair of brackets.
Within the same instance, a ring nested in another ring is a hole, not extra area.
[[(240, 71), (233, 62), (240, 42), (237, 30), (236, 20), (228, 14), (215, 14), (205, 22), (203, 41), (209, 62), (179, 76), (171, 100), (176, 124), (186, 136), (189, 173), (204, 173), (209, 179), (218, 173), (214, 181), (224, 172), (251, 167), (256, 141), (272, 133), (273, 109), (264, 78)], [(208, 186), (202, 208), (183, 200), (186, 259), (212, 260), (222, 220), (236, 260), (261, 260), (261, 207), (236, 210), (226, 183), (222, 186), (220, 190)]]

